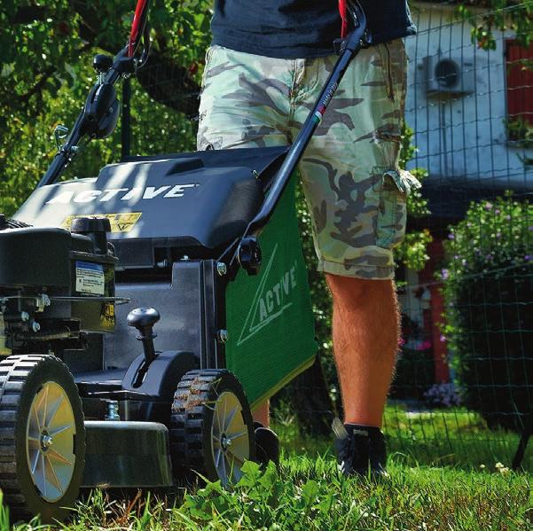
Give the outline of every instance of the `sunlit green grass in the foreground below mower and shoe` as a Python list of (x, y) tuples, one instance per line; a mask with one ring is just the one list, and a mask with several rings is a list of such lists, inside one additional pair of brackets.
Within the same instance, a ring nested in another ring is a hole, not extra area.
[[(247, 474), (229, 491), (218, 483), (171, 495), (133, 493), (111, 499), (101, 491), (77, 505), (70, 529), (417, 529), (525, 530), (533, 528), (529, 473), (487, 462), (484, 468), (412, 466), (394, 453), (380, 483), (336, 472), (326, 441), (294, 438), (278, 426), (286, 450), (278, 472)], [(303, 449), (302, 449), (303, 448)], [(7, 528), (5, 513), (0, 525)], [(35, 529), (20, 525), (17, 529)], [(43, 528), (43, 527), (41, 527)]]

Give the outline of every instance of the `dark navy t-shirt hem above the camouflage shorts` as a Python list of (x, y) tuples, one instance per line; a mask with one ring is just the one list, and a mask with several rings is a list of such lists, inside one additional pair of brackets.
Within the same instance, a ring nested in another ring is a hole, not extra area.
[[(360, 0), (373, 43), (413, 35), (406, 0)], [(338, 0), (215, 0), (213, 44), (266, 57), (304, 59), (333, 53), (341, 36)]]

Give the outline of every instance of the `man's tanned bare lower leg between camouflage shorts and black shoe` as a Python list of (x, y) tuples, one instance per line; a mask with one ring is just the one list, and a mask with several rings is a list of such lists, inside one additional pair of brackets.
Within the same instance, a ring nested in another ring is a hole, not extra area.
[(329, 274), (326, 280), (344, 422), (380, 427), (399, 337), (394, 283)]

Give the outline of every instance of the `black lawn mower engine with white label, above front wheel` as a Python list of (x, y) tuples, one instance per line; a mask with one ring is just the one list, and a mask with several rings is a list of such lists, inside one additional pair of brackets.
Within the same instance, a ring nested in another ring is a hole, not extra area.
[(68, 357), (88, 351), (91, 332), (114, 331), (108, 230), (106, 219), (77, 219), (70, 232), (0, 215), (1, 355)]

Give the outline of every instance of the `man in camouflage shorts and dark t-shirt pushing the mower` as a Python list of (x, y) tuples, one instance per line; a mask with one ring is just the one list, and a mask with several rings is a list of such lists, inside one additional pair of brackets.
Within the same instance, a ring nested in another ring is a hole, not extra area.
[[(361, 4), (373, 44), (352, 61), (299, 167), (333, 296), (346, 428), (338, 458), (348, 475), (385, 473), (380, 426), (399, 333), (392, 247), (404, 236), (410, 184), (397, 168), (401, 37), (415, 31), (405, 0)], [(341, 23), (335, 0), (216, 0), (198, 149), (290, 144), (333, 68)], [(254, 413), (268, 426), (268, 404)]]

